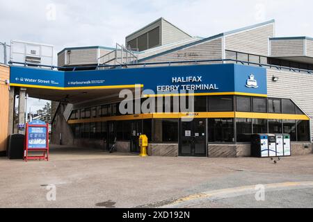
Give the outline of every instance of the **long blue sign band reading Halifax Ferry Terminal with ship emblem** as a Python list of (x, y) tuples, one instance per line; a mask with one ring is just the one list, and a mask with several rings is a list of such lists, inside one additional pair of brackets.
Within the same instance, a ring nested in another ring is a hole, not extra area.
[(141, 85), (143, 90), (150, 89), (157, 94), (193, 91), (195, 94), (267, 95), (266, 69), (236, 64), (88, 71), (52, 71), (27, 67), (10, 69), (11, 85), (19, 87), (86, 90), (123, 89)]

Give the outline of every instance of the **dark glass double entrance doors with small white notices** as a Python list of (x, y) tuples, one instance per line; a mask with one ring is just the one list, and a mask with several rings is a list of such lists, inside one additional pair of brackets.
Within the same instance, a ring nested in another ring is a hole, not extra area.
[(207, 156), (206, 120), (193, 119), (181, 121), (181, 137), (179, 142), (179, 155), (182, 156)]

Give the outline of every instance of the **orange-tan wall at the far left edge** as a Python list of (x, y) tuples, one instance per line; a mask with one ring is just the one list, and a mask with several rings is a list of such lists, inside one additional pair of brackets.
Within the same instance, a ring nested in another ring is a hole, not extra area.
[(0, 155), (6, 154), (8, 139), (9, 87), (4, 83), (10, 79), (10, 67), (0, 64)]

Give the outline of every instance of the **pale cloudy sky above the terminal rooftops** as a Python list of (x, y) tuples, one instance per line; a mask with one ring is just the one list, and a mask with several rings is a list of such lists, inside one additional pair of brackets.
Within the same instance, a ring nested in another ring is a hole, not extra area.
[[(0, 0), (0, 42), (114, 46), (164, 17), (193, 36), (209, 37), (275, 19), (275, 35), (313, 37), (311, 0)], [(38, 110), (45, 101), (29, 100)], [(28, 108), (29, 109), (29, 108)]]

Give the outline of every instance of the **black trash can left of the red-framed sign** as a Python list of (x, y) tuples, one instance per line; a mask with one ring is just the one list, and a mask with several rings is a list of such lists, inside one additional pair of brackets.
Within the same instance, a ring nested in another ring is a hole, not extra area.
[(8, 138), (7, 155), (10, 160), (19, 160), (24, 157), (25, 135), (13, 134)]

